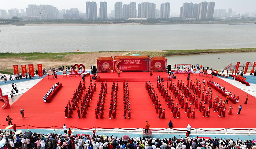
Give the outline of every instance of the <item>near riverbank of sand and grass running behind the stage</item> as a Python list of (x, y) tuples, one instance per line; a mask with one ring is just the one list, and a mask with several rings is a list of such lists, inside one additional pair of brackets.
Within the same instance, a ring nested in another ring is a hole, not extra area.
[[(35, 69), (37, 63), (42, 63), (44, 68), (58, 67), (59, 65), (71, 65), (75, 63), (83, 63), (86, 69), (90, 68), (90, 65), (96, 65), (96, 59), (99, 56), (130, 56), (132, 54), (149, 55), (154, 56), (185, 56), (185, 55), (198, 55), (202, 54), (203, 57), (207, 57), (216, 61), (216, 57), (209, 57), (206, 54), (210, 53), (239, 53), (241, 52), (256, 52), (256, 48), (236, 48), (236, 49), (194, 49), (194, 50), (168, 50), (168, 51), (101, 51), (101, 52), (67, 52), (67, 53), (0, 53), (0, 71), (9, 72), (13, 71), (13, 64), (34, 64)], [(245, 54), (246, 55), (246, 54)], [(200, 57), (200, 56), (199, 56)], [(239, 57), (239, 56), (238, 56)], [(244, 56), (246, 57), (246, 56)], [(180, 57), (182, 59), (182, 57)], [(185, 58), (185, 57), (184, 57)], [(219, 58), (219, 57), (218, 57)], [(186, 59), (186, 58), (185, 58)], [(247, 61), (246, 58), (236, 58), (235, 61)], [(217, 62), (217, 61), (216, 61)], [(232, 61), (233, 62), (233, 61)], [(224, 62), (227, 63), (227, 62)], [(226, 64), (225, 64), (226, 65)]]

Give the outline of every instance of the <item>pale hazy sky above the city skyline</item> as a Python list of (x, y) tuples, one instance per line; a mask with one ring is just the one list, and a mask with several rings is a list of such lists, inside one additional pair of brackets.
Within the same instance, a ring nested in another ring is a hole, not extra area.
[[(97, 9), (100, 8), (100, 2), (102, 0), (94, 0), (97, 3)], [(114, 10), (114, 4), (117, 0), (105, 0), (108, 3), (108, 13)], [(119, 0), (120, 1), (120, 0)], [(212, 2), (212, 0), (122, 0), (123, 4), (129, 4), (130, 2), (136, 2), (137, 7), (141, 2), (151, 2), (156, 4), (156, 9), (160, 9), (160, 4), (169, 2), (171, 3), (171, 13), (180, 13), (180, 7), (185, 2), (200, 3), (200, 2)], [(9, 10), (11, 8), (25, 9), (28, 4), (49, 4), (61, 9), (78, 8), (79, 11), (86, 12), (85, 2), (87, 0), (0, 0), (0, 9)], [(236, 13), (252, 12), (256, 11), (256, 0), (214, 0), (215, 9), (228, 9), (232, 8)], [(26, 11), (26, 10), (25, 10)]]

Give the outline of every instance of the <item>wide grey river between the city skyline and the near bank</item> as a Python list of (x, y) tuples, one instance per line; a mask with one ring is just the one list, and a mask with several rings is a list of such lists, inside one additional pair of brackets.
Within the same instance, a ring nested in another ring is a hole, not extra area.
[(256, 25), (0, 26), (0, 52), (256, 47)]

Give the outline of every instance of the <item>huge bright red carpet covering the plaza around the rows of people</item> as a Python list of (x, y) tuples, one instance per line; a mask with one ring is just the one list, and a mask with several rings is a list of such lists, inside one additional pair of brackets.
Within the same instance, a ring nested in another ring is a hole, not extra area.
[[(190, 78), (193, 81), (198, 78), (199, 80), (208, 81), (212, 79), (218, 82), (221, 86), (240, 97), (240, 103), (232, 104), (229, 102), (226, 105), (226, 117), (218, 117), (218, 113), (215, 113), (211, 109), (210, 117), (203, 118), (202, 113), (196, 110), (196, 118), (187, 118), (184, 110), (181, 109), (181, 118), (173, 119), (171, 110), (167, 108), (167, 104), (163, 98), (159, 97), (163, 108), (165, 111), (165, 119), (158, 119), (158, 114), (155, 112), (155, 108), (152, 105), (151, 99), (148, 96), (147, 90), (145, 89), (145, 80), (156, 80), (156, 76), (160, 75), (161, 77), (167, 78), (165, 72), (154, 72), (153, 76), (149, 76), (149, 72), (123, 72), (121, 76), (118, 77), (116, 73), (99, 73), (101, 79), (108, 81), (117, 80), (119, 85), (122, 86), (122, 80), (128, 80), (129, 82), (129, 99), (131, 103), (131, 119), (124, 119), (123, 117), (123, 90), (122, 88), (117, 92), (117, 113), (116, 119), (108, 118), (108, 108), (110, 103), (110, 92), (107, 93), (105, 110), (104, 110), (104, 119), (95, 119), (94, 110), (96, 108), (96, 102), (98, 99), (98, 94), (100, 90), (100, 83), (97, 83), (96, 93), (93, 95), (93, 100), (90, 103), (88, 108), (86, 118), (77, 117), (76, 110), (74, 111), (72, 118), (65, 118), (64, 107), (73, 96), (73, 92), (79, 81), (82, 81), (81, 77), (70, 77), (62, 78), (62, 75), (58, 75), (58, 79), (48, 79), (45, 77), (38, 84), (32, 87), (28, 92), (24, 93), (19, 100), (12, 104), (11, 108), (2, 110), (0, 109), (1, 115), (0, 119), (2, 120), (0, 124), (7, 125), (5, 121), (7, 115), (10, 115), (13, 119), (12, 123), (16, 123), (17, 126), (29, 124), (38, 127), (47, 127), (47, 126), (62, 126), (63, 123), (66, 123), (68, 126), (76, 126), (79, 128), (91, 128), (94, 126), (103, 127), (103, 128), (140, 128), (145, 127), (145, 121), (148, 121), (151, 128), (166, 128), (168, 127), (168, 122), (172, 120), (174, 128), (185, 128), (188, 123), (193, 128), (255, 128), (254, 121), (256, 121), (256, 115), (254, 115), (255, 109), (255, 98), (251, 95), (243, 92), (242, 90), (232, 86), (231, 84), (223, 81), (218, 77), (202, 77), (202, 76), (191, 76)], [(186, 81), (187, 76), (183, 74), (176, 74), (177, 79), (174, 79), (174, 83), (177, 84), (177, 80)], [(138, 81), (140, 80), (140, 81)], [(52, 87), (56, 82), (62, 83), (63, 87), (61, 90), (54, 96), (51, 103), (43, 102), (43, 95)], [(156, 81), (152, 82), (153, 86), (156, 87)], [(89, 78), (86, 77), (86, 87), (88, 87)], [(187, 84), (187, 83), (185, 83)], [(166, 86), (166, 82), (164, 82)], [(207, 87), (207, 86), (206, 86)], [(111, 90), (111, 82), (108, 82), (108, 91)], [(156, 91), (158, 92), (158, 91)], [(216, 97), (217, 91), (213, 90), (213, 98)], [(246, 95), (249, 95), (248, 104), (245, 105)], [(222, 99), (225, 99), (225, 97)], [(176, 100), (177, 102), (177, 100)], [(229, 105), (233, 105), (233, 115), (228, 115)], [(241, 115), (236, 115), (238, 112), (238, 105), (242, 105)], [(1, 105), (0, 105), (1, 106)], [(179, 106), (180, 107), (180, 106)], [(192, 106), (194, 107), (194, 106)], [(208, 105), (206, 106), (208, 107)], [(25, 108), (25, 119), (21, 119), (20, 109)], [(245, 122), (245, 123), (241, 123)], [(23, 127), (25, 128), (25, 127)]]

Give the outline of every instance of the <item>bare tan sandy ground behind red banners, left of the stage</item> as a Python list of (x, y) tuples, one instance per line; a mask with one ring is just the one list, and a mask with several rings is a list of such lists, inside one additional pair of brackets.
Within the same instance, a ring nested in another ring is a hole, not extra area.
[(27, 71), (28, 71), (28, 64), (34, 64), (34, 70), (37, 69), (37, 64), (42, 63), (43, 68), (50, 68), (50, 67), (58, 67), (60, 65), (64, 66), (71, 66), (71, 64), (84, 64), (86, 69), (90, 69), (91, 65), (97, 65), (96, 59), (99, 58), (99, 56), (112, 56), (114, 58), (115, 55), (125, 55), (129, 52), (93, 52), (93, 53), (85, 53), (85, 54), (79, 54), (79, 55), (67, 55), (61, 60), (44, 60), (44, 59), (37, 59), (37, 60), (26, 60), (24, 58), (1, 58), (0, 59), (0, 70), (2, 71), (13, 71), (13, 65), (17, 64), (19, 65), (19, 70), (21, 71), (21, 64), (27, 65)]

